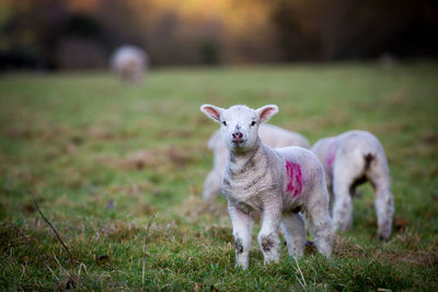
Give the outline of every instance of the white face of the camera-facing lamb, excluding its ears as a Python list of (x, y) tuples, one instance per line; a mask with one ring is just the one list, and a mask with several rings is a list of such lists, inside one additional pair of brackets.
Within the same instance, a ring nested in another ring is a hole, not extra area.
[(231, 151), (246, 151), (257, 141), (260, 118), (244, 105), (234, 105), (220, 115), (223, 141)]

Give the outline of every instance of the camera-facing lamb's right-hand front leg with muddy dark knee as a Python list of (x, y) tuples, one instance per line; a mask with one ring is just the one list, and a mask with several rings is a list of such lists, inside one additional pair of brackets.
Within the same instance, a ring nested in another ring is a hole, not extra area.
[(280, 221), (281, 207), (272, 202), (265, 206), (262, 230), (258, 233), (258, 243), (262, 247), (265, 264), (278, 262), (279, 260), (278, 229)]

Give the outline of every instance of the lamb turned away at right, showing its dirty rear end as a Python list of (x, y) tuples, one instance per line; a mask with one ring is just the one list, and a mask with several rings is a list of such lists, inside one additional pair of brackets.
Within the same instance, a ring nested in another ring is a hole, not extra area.
[(331, 200), (334, 199), (334, 231), (345, 231), (353, 223), (353, 197), (356, 187), (369, 180), (376, 192), (378, 237), (391, 235), (394, 199), (383, 147), (368, 131), (353, 130), (319, 140), (311, 149), (324, 166)]

